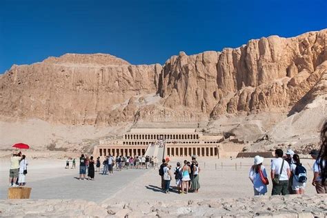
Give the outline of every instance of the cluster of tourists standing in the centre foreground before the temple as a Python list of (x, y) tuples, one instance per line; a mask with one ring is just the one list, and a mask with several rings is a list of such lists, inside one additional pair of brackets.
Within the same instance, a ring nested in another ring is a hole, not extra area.
[(170, 181), (175, 177), (176, 189), (179, 194), (187, 194), (188, 192), (199, 192), (199, 164), (197, 157), (192, 156), (192, 161), (184, 160), (184, 165), (181, 166), (177, 162), (176, 167), (172, 170), (169, 164), (170, 159), (162, 159), (162, 164), (159, 167), (159, 176), (161, 177), (161, 189), (165, 193), (170, 193)]

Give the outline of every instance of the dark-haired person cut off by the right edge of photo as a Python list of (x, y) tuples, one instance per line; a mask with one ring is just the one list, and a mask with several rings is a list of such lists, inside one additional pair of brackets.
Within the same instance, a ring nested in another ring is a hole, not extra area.
[(315, 186), (318, 194), (327, 193), (327, 121), (321, 129), (321, 147), (315, 163)]

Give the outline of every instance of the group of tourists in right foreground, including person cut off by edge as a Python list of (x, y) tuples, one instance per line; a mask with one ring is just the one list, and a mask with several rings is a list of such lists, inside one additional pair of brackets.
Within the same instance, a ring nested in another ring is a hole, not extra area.
[[(315, 159), (313, 164), (312, 185), (318, 194), (327, 193), (327, 122), (321, 130), (321, 149), (311, 150), (309, 155)], [(256, 156), (250, 168), (249, 178), (252, 181), (255, 195), (265, 195), (269, 184), (264, 157)], [(271, 195), (303, 195), (308, 180), (307, 170), (301, 164), (299, 155), (288, 149), (286, 156), (281, 149), (275, 150), (275, 159), (271, 161), (270, 177), (273, 184)]]

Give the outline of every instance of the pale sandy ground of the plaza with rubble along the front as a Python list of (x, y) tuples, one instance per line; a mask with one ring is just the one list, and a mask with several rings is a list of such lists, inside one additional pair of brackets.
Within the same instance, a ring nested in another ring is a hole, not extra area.
[[(173, 158), (171, 164), (175, 166), (176, 161), (184, 159), (187, 158)], [(311, 181), (313, 160), (303, 159), (302, 162), (308, 170), (308, 181)], [(32, 159), (27, 177), (28, 186), (32, 187), (31, 199), (6, 200), (9, 163), (8, 159), (1, 159), (0, 216), (269, 217), (272, 214), (285, 215), (299, 211), (308, 215), (315, 215), (316, 212), (316, 215), (324, 216), (327, 212), (326, 195), (315, 195), (315, 188), (310, 182), (306, 187), (306, 195), (301, 197), (269, 197), (271, 185), (265, 197), (252, 197), (252, 184), (248, 179), (252, 158), (200, 158), (199, 164), (199, 193), (178, 195), (174, 191), (170, 194), (161, 192), (157, 169), (115, 171), (112, 176), (102, 176), (96, 172), (95, 181), (79, 181), (75, 179), (78, 166), (75, 170), (66, 170), (66, 161), (63, 159)], [(265, 159), (264, 165), (269, 172), (270, 159)], [(175, 186), (174, 180), (172, 186)]]

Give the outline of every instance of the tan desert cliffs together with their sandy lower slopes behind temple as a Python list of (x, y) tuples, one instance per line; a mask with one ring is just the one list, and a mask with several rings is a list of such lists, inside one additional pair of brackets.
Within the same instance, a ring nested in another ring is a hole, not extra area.
[(88, 150), (139, 126), (228, 132), (247, 150), (305, 150), (317, 146), (327, 117), (326, 69), (326, 29), (180, 52), (162, 66), (110, 54), (14, 65), (0, 75), (0, 148)]

